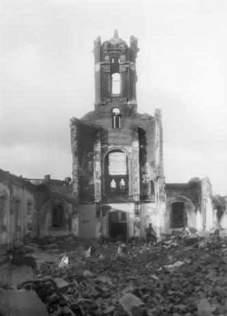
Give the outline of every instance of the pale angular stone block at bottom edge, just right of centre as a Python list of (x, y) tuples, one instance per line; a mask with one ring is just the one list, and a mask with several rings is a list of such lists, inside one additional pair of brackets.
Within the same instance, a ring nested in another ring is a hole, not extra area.
[(141, 315), (139, 314), (139, 309), (144, 305), (144, 302), (135, 295), (126, 293), (120, 298), (119, 304), (122, 306), (124, 312), (126, 312), (129, 316), (134, 316)]

